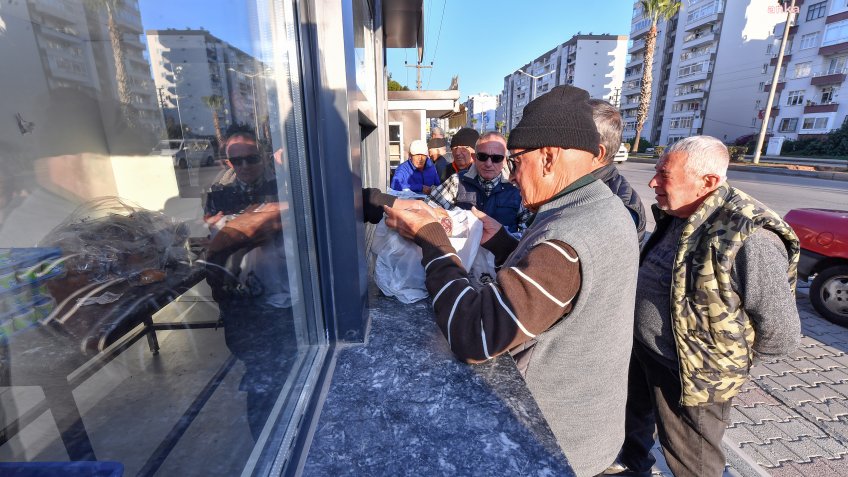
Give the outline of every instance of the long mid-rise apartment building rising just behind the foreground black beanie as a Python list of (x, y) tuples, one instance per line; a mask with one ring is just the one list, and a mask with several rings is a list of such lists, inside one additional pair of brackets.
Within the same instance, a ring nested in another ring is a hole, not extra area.
[(524, 106), (554, 86), (570, 84), (593, 98), (616, 101), (624, 78), (627, 37), (577, 34), (504, 77), (496, 115), (506, 130), (518, 124)]

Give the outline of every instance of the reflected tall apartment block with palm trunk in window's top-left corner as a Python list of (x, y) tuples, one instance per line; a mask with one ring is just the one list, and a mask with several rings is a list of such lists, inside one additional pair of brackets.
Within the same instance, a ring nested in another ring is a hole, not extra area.
[[(53, 132), (48, 124), (61, 127), (60, 105), (84, 101), (93, 105), (88, 108), (89, 119), (110, 125), (109, 138), (116, 132), (113, 129), (126, 126), (118, 115), (127, 116), (132, 134), (139, 138), (161, 132), (150, 64), (139, 40), (137, 1), (121, 2), (111, 15), (83, 0), (7, 3), (0, 28), (0, 59), (7, 66), (0, 76), (5, 93), (0, 115), (14, 118), (17, 127), (0, 128), (4, 150), (49, 153), (39, 144), (45, 143), (42, 135)], [(113, 47), (112, 36), (118, 48)], [(122, 75), (115, 67), (118, 61), (123, 64)], [(20, 74), (11, 74), (12, 70)], [(77, 116), (76, 121), (83, 118)]]

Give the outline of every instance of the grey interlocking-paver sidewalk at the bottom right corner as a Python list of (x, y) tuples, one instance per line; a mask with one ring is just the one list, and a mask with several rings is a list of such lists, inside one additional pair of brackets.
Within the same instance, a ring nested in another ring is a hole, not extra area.
[[(819, 317), (798, 292), (801, 344), (763, 362), (734, 399), (725, 476), (848, 475), (848, 328)], [(654, 475), (671, 477), (654, 449)]]

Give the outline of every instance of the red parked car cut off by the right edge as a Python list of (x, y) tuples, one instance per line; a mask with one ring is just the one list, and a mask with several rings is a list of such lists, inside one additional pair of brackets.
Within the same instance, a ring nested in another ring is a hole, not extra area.
[(801, 241), (798, 276), (813, 279), (810, 302), (827, 320), (848, 326), (848, 211), (793, 209), (786, 221)]

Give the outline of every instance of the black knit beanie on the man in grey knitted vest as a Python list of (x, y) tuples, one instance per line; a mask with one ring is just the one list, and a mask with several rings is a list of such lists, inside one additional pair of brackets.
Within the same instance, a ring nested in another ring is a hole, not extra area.
[(589, 93), (574, 86), (557, 86), (530, 101), (521, 121), (509, 133), (509, 149), (556, 146), (600, 154), (601, 137), (592, 119)]

